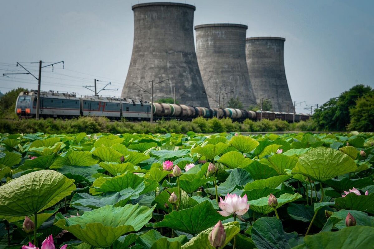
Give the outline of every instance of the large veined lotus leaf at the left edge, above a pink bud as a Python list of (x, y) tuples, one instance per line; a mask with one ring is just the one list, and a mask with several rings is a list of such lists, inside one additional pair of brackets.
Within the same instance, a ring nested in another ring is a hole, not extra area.
[(0, 215), (25, 216), (52, 207), (76, 189), (74, 180), (53, 170), (25, 174), (0, 186)]

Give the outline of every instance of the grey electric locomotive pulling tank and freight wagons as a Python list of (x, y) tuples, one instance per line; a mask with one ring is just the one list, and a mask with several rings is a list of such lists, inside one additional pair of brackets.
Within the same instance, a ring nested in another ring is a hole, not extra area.
[[(24, 91), (18, 95), (15, 112), (21, 119), (36, 116), (37, 91)], [(196, 117), (206, 119), (228, 117), (242, 122), (245, 119), (260, 120), (261, 111), (249, 111), (237, 108), (193, 107), (183, 104), (153, 103), (153, 120), (193, 120)], [(107, 117), (111, 120), (122, 118), (131, 121), (147, 121), (151, 118), (151, 103), (128, 98), (85, 96), (77, 97), (69, 92), (40, 92), (41, 118), (76, 118), (80, 116)], [(294, 120), (295, 116), (295, 120)], [(309, 114), (263, 111), (263, 119), (281, 119), (288, 122), (308, 120)]]

